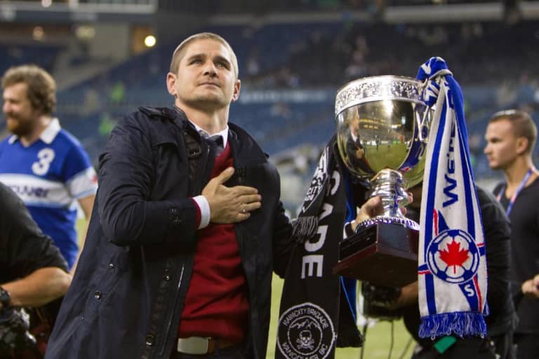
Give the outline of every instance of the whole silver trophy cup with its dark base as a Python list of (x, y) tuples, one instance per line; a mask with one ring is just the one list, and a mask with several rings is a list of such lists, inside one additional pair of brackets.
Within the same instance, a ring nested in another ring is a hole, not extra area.
[(429, 111), (421, 91), (420, 81), (404, 76), (366, 77), (338, 90), (340, 157), (371, 197), (381, 196), (384, 212), (340, 242), (334, 273), (394, 287), (417, 280), (419, 225), (400, 207), (425, 168)]

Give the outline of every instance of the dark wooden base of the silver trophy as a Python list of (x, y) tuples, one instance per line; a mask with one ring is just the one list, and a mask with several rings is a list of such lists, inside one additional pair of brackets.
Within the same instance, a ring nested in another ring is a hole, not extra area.
[(339, 243), (333, 273), (375, 285), (403, 287), (418, 280), (419, 231), (378, 223)]

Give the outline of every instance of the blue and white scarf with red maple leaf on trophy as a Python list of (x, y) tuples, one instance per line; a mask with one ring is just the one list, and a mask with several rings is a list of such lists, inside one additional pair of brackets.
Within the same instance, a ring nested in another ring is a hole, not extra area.
[(423, 180), (418, 255), (420, 337), (486, 334), (486, 257), (470, 166), (463, 94), (432, 57), (417, 79), (434, 106)]

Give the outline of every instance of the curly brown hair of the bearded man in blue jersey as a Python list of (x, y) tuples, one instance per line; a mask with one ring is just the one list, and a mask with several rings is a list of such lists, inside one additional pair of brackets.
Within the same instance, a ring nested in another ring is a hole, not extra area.
[(56, 82), (53, 76), (36, 65), (11, 67), (2, 76), (2, 89), (17, 83), (26, 83), (28, 100), (34, 109), (50, 115), (56, 107)]

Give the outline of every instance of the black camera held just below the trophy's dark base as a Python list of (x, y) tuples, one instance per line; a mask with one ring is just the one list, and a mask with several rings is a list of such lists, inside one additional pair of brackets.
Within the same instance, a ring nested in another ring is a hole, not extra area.
[(401, 288), (361, 282), (361, 294), (364, 297), (364, 316), (379, 320), (401, 318), (401, 309), (392, 309), (392, 304), (401, 294)]

